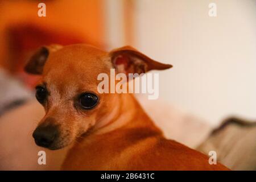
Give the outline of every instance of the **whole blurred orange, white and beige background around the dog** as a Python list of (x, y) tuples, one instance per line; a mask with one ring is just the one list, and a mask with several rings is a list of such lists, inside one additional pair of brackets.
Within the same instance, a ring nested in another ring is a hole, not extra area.
[(130, 45), (174, 65), (158, 72), (158, 100), (137, 96), (147, 114), (167, 138), (216, 151), (230, 169), (256, 170), (255, 0), (0, 0), (0, 169), (60, 168), (65, 150), (48, 150), (38, 165), (46, 149), (31, 135), (44, 110), (38, 76), (23, 67), (42, 45), (76, 43)]

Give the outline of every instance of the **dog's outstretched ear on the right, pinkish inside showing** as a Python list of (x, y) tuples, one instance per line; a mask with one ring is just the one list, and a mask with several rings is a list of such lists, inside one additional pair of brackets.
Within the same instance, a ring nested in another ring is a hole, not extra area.
[(152, 69), (168, 69), (171, 68), (170, 64), (159, 63), (152, 60), (143, 53), (137, 51), (135, 48), (125, 46), (114, 49), (110, 52), (112, 64), (118, 73), (146, 73)]

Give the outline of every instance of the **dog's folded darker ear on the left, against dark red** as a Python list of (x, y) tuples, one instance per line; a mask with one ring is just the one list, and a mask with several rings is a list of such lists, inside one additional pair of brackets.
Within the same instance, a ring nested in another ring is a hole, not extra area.
[(40, 47), (27, 61), (24, 70), (27, 73), (41, 75), (43, 73), (43, 67), (46, 63), (46, 60), (48, 59), (49, 54), (61, 49), (62, 47), (63, 46), (58, 44)]

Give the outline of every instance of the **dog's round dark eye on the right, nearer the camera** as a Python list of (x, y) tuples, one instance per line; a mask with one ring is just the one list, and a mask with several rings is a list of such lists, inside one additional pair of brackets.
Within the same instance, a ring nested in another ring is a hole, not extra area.
[(79, 98), (80, 105), (83, 109), (92, 109), (98, 102), (98, 97), (92, 93), (83, 93)]

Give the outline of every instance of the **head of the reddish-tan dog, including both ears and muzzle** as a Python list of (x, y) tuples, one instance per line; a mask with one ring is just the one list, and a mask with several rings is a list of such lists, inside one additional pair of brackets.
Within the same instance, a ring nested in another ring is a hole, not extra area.
[(111, 93), (99, 93), (98, 75), (144, 73), (167, 69), (131, 47), (111, 52), (76, 44), (44, 46), (31, 56), (25, 67), (28, 73), (42, 75), (36, 86), (36, 99), (46, 115), (33, 133), (36, 144), (56, 150), (72, 143), (106, 117), (112, 107)]

